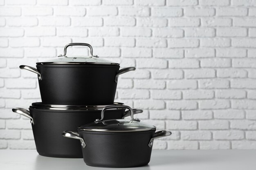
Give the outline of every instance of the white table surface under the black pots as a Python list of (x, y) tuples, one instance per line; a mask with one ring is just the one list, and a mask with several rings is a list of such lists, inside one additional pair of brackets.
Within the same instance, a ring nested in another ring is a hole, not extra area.
[[(108, 170), (83, 159), (51, 158), (36, 150), (0, 150), (0, 170)], [(153, 150), (148, 166), (133, 170), (256, 170), (256, 150)]]

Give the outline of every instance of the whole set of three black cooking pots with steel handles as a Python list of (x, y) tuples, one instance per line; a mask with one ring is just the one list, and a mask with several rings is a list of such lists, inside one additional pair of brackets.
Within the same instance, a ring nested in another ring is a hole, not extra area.
[[(87, 46), (90, 56), (67, 56), (68, 46)], [(153, 140), (171, 135), (133, 117), (142, 110), (114, 102), (119, 75), (135, 67), (119, 70), (118, 63), (93, 55), (90, 44), (67, 44), (64, 55), (20, 68), (38, 75), (42, 102), (12, 110), (30, 119), (39, 155), (83, 158), (96, 167), (144, 166)]]

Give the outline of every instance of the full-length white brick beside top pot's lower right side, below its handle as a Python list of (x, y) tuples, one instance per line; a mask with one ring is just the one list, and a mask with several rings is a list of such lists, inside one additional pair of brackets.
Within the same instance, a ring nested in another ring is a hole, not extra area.
[(149, 99), (149, 91), (144, 89), (125, 89), (119, 90), (118, 96), (120, 99)]

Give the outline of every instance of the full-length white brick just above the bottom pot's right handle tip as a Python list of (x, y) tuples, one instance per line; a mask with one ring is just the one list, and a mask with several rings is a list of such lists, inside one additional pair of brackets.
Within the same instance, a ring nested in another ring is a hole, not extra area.
[(164, 109), (165, 103), (162, 100), (135, 100), (135, 108), (158, 110)]

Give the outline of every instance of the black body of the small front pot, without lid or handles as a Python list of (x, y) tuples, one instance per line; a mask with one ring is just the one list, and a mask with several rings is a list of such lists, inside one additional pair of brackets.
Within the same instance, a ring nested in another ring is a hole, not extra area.
[(148, 146), (155, 130), (142, 132), (93, 132), (79, 130), (85, 141), (83, 160), (88, 166), (128, 168), (145, 166), (150, 161)]

